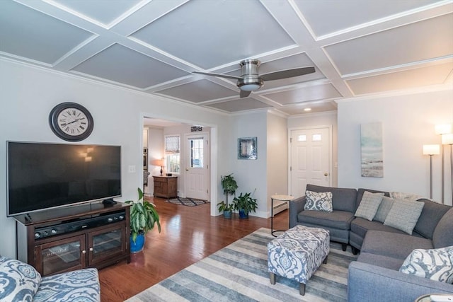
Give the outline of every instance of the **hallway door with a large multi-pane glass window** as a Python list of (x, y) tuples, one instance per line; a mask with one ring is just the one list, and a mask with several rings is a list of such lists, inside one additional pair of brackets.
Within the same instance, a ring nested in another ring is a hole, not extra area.
[(185, 196), (208, 200), (209, 151), (207, 133), (186, 135)]

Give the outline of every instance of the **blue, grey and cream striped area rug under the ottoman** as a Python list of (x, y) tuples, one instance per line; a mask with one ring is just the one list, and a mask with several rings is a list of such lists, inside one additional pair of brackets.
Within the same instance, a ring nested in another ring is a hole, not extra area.
[(270, 284), (266, 245), (274, 237), (260, 228), (205, 259), (151, 286), (127, 302), (145, 301), (346, 301), (348, 265), (357, 256), (331, 243), (321, 265), (299, 295), (297, 281), (277, 277)]

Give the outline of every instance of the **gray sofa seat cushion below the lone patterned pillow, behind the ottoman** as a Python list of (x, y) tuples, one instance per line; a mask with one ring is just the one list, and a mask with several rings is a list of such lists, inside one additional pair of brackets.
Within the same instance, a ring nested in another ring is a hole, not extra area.
[(348, 211), (301, 211), (297, 214), (297, 221), (310, 223), (314, 226), (326, 226), (340, 230), (350, 230), (350, 224), (354, 215)]

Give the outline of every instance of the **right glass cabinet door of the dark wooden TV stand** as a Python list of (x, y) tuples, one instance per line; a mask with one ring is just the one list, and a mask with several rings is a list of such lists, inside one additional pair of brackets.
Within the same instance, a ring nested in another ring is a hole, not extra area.
[(88, 265), (122, 255), (126, 251), (125, 223), (115, 223), (108, 228), (88, 233)]

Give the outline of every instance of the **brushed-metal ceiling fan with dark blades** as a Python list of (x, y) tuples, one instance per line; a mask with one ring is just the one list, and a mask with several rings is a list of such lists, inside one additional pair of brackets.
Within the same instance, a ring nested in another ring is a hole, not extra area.
[(252, 91), (257, 91), (263, 86), (264, 81), (273, 81), (292, 78), (293, 76), (303, 76), (304, 74), (314, 73), (314, 66), (286, 69), (270, 72), (268, 74), (258, 74), (260, 60), (246, 59), (239, 63), (241, 66), (241, 76), (230, 76), (229, 74), (213, 74), (211, 72), (193, 71), (193, 74), (205, 74), (207, 76), (219, 76), (220, 78), (238, 80), (236, 86), (241, 89), (241, 98), (246, 98)]

